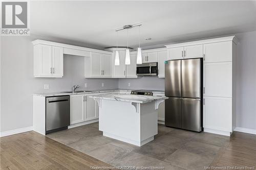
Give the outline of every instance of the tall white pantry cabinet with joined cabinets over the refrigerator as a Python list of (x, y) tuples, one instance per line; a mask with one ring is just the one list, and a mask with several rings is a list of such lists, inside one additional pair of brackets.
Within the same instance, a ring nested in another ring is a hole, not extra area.
[(229, 136), (236, 127), (236, 36), (166, 45), (168, 60), (203, 58), (203, 128)]

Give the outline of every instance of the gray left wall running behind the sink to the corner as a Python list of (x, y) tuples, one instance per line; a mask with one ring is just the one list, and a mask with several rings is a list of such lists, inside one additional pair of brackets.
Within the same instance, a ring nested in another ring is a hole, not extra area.
[[(1, 132), (33, 125), (33, 93), (67, 91), (75, 84), (84, 89), (86, 82), (88, 90), (118, 88), (118, 79), (85, 79), (83, 58), (78, 56), (65, 55), (63, 78), (33, 78), (31, 40), (1, 37)], [(44, 90), (44, 84), (49, 84), (50, 89)]]

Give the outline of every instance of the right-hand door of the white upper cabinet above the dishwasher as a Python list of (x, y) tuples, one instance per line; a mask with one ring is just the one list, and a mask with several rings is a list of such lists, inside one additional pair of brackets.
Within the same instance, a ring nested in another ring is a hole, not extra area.
[(63, 48), (52, 46), (52, 76), (63, 76)]

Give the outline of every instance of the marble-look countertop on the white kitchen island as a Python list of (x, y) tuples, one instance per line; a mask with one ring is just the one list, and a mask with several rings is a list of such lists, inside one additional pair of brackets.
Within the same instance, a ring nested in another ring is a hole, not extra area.
[(166, 96), (152, 96), (152, 95), (136, 95), (136, 94), (98, 94), (88, 95), (94, 99), (114, 100), (122, 102), (134, 102), (134, 103), (150, 103), (156, 100), (168, 99)]

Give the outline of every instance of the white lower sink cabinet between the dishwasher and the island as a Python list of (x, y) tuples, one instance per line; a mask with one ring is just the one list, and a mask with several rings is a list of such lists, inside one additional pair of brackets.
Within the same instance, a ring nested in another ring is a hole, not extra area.
[(99, 118), (98, 103), (87, 95), (70, 95), (70, 125)]

